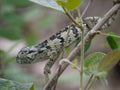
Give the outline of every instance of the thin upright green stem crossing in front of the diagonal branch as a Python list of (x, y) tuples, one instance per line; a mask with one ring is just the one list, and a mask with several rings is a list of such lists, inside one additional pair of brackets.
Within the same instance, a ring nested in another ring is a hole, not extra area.
[(80, 64), (80, 90), (83, 90), (83, 68), (84, 68), (84, 31), (82, 30), (82, 35), (81, 35), (81, 64)]

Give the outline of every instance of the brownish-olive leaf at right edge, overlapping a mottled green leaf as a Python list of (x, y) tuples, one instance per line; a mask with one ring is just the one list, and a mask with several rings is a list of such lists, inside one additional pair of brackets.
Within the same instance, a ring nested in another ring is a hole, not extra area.
[(120, 60), (120, 50), (114, 50), (109, 52), (99, 63), (99, 71), (109, 71), (112, 69)]

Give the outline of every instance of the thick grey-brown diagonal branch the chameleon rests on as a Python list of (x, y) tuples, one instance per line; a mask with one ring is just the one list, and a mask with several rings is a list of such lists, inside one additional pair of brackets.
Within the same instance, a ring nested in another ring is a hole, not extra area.
[[(102, 25), (105, 24), (105, 22), (113, 15), (115, 14), (118, 9), (120, 8), (120, 4), (114, 5), (102, 18), (100, 22), (98, 22), (91, 31), (87, 33), (87, 35), (84, 38), (85, 43), (89, 42), (93, 39), (93, 37), (98, 34), (97, 31), (100, 31), (99, 29), (102, 27)], [(81, 50), (82, 43), (80, 42), (68, 55), (67, 59), (70, 61), (73, 61), (77, 53)], [(56, 83), (57, 79), (60, 77), (60, 75), (63, 73), (63, 71), (68, 67), (68, 63), (64, 63), (61, 65), (61, 69), (58, 69), (55, 73), (55, 75), (52, 77), (51, 80), (48, 81), (48, 83), (45, 85), (43, 90), (51, 90), (52, 86)]]

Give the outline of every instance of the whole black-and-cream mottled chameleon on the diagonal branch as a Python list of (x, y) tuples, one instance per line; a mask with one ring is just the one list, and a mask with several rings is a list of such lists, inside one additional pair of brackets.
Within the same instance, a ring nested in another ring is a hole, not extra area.
[[(108, 28), (114, 21), (114, 15), (101, 27), (102, 30)], [(101, 17), (86, 17), (83, 20), (84, 35), (87, 34), (99, 21)], [(69, 35), (67, 35), (69, 32)], [(64, 48), (71, 45), (74, 41), (81, 37), (82, 31), (75, 24), (70, 24), (52, 35), (47, 40), (33, 45), (31, 47), (23, 47), (17, 54), (16, 62), (19, 64), (32, 64), (44, 60), (48, 60), (44, 67), (44, 73), (49, 74), (50, 68), (56, 61), (59, 54)], [(68, 39), (66, 39), (68, 38)]]

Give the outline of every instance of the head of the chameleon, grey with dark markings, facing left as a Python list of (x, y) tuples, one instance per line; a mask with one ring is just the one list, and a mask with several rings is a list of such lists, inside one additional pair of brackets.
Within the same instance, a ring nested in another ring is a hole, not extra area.
[(22, 48), (16, 57), (16, 62), (20, 64), (30, 64), (35, 61), (36, 49), (32, 49), (30, 47)]

